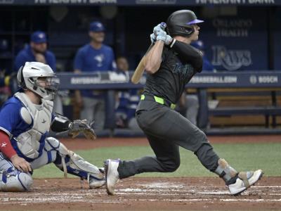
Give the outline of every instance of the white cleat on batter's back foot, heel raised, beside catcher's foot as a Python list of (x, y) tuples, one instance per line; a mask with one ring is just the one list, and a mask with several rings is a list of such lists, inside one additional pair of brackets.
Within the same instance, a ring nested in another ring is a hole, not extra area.
[(119, 181), (119, 173), (118, 173), (118, 160), (106, 160), (105, 161), (105, 187), (108, 195), (114, 195), (115, 185), (117, 181)]

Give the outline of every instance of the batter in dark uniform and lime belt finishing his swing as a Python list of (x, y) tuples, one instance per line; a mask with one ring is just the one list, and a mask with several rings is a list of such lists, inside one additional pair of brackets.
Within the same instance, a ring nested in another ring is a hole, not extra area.
[(207, 136), (174, 108), (185, 84), (202, 71), (202, 53), (190, 46), (198, 39), (200, 27), (195, 13), (181, 10), (172, 13), (166, 34), (157, 25), (150, 35), (155, 45), (145, 56), (147, 82), (136, 110), (139, 126), (155, 153), (136, 160), (106, 160), (107, 193), (114, 194), (119, 179), (142, 172), (174, 172), (180, 165), (179, 146), (195, 153), (202, 165), (218, 174), (237, 195), (262, 177), (262, 170), (237, 172), (220, 158)]

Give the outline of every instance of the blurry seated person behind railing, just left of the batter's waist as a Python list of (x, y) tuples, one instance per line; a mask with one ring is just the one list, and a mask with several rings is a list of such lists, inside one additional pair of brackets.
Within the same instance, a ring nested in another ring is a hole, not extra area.
[[(116, 62), (117, 71), (129, 78), (129, 63), (126, 57), (119, 56)], [(125, 127), (134, 132), (141, 132), (141, 128), (136, 122), (136, 107), (138, 106), (138, 101), (140, 101), (138, 89), (119, 91), (117, 97), (117, 109), (115, 110), (117, 127)]]

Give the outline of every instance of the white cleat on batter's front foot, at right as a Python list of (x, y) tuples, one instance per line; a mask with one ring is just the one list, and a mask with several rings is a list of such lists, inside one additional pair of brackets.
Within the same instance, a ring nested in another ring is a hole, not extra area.
[(254, 185), (256, 181), (259, 181), (263, 177), (262, 170), (256, 170), (255, 172), (240, 172), (234, 184), (228, 185), (230, 194), (237, 196), (245, 191), (250, 186)]

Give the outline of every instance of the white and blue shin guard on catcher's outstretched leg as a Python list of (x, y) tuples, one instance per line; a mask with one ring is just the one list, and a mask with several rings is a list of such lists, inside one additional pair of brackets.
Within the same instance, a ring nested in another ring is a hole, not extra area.
[(76, 175), (81, 179), (87, 179), (90, 188), (99, 188), (105, 184), (104, 175), (98, 167), (87, 162), (76, 153), (68, 150), (57, 139), (48, 138), (48, 143), (56, 150), (57, 158), (54, 164), (65, 173)]

